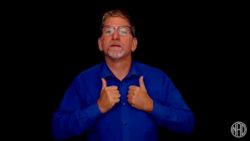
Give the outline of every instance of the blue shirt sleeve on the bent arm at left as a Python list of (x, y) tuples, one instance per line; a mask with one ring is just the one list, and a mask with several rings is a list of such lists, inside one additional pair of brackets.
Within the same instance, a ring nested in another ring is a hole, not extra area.
[(97, 101), (90, 105), (83, 105), (80, 101), (84, 98), (80, 82), (75, 80), (65, 93), (59, 109), (52, 119), (52, 133), (55, 139), (63, 140), (72, 136), (80, 135), (93, 126), (96, 119), (101, 115)]

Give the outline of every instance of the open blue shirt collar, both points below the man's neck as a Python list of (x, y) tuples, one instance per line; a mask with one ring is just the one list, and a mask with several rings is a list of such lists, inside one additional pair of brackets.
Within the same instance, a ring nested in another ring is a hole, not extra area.
[[(136, 69), (136, 62), (135, 61), (132, 61), (132, 64), (131, 64), (131, 68), (128, 72), (128, 75), (126, 77), (131, 77), (133, 75), (135, 76), (140, 76), (138, 70)], [(108, 65), (103, 62), (101, 64), (101, 77), (102, 78), (106, 78), (106, 77), (115, 77), (114, 74), (111, 72), (111, 70), (109, 69)]]

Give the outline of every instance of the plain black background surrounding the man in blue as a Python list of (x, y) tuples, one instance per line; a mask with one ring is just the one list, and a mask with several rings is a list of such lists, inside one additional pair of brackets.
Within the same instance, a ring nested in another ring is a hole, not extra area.
[(14, 106), (7, 109), (9, 138), (53, 140), (51, 118), (66, 88), (103, 60), (99, 26), (111, 8), (123, 8), (134, 19), (139, 40), (134, 59), (165, 71), (195, 114), (192, 136), (162, 129), (162, 140), (249, 136), (236, 139), (230, 133), (236, 121), (250, 125), (249, 10), (244, 3), (94, 3), (15, 3), (17, 10), (11, 5), (5, 11), (11, 15), (6, 16), (6, 37), (12, 39), (6, 60), (14, 60), (7, 63), (14, 78), (6, 81)]

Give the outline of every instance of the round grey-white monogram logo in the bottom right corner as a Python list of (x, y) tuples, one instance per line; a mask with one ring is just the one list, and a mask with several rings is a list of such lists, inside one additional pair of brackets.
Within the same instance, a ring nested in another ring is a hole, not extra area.
[(231, 133), (236, 138), (242, 138), (247, 133), (247, 126), (245, 123), (237, 121), (231, 126)]

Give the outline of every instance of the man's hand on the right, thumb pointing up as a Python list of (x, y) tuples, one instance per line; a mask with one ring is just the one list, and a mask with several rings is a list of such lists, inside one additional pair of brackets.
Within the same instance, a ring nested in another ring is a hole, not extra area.
[(146, 112), (151, 112), (153, 110), (153, 100), (149, 97), (147, 89), (144, 85), (143, 76), (139, 79), (138, 86), (130, 86), (128, 91), (128, 103), (131, 106), (144, 110)]

